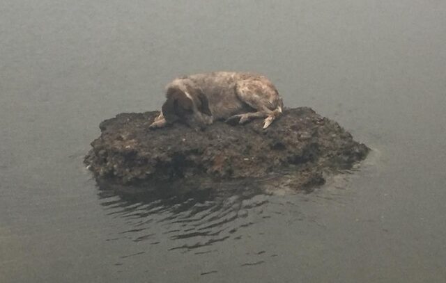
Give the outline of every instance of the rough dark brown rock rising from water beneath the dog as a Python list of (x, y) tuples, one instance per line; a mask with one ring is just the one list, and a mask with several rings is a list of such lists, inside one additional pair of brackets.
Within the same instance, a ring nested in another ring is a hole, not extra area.
[(85, 158), (100, 184), (180, 190), (265, 180), (268, 190), (311, 191), (324, 183), (323, 174), (349, 169), (369, 152), (337, 122), (306, 107), (285, 109), (265, 130), (260, 119), (215, 122), (203, 131), (183, 124), (148, 129), (157, 114), (121, 113), (100, 123), (102, 133)]

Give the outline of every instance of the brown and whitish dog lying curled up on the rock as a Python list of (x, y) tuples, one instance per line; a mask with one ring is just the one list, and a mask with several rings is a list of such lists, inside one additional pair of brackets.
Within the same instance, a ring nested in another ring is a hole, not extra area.
[(282, 115), (283, 102), (265, 76), (246, 72), (213, 72), (174, 79), (151, 129), (174, 122), (204, 129), (215, 120), (243, 124), (265, 118), (263, 129)]

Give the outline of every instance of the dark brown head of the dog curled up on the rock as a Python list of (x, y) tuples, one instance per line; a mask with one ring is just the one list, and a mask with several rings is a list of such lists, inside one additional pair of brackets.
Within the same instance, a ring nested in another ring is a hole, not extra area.
[[(168, 88), (162, 113), (168, 123), (183, 122), (190, 127), (206, 127), (212, 116), (206, 95), (201, 90)], [(206, 117), (207, 116), (207, 117)]]

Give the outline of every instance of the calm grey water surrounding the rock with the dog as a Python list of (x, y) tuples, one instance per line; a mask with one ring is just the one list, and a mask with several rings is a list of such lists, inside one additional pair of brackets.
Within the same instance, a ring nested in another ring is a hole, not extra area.
[[(310, 195), (96, 187), (99, 122), (210, 70), (266, 74), (374, 153)], [(445, 107), (441, 0), (2, 0), (0, 282), (445, 282)]]

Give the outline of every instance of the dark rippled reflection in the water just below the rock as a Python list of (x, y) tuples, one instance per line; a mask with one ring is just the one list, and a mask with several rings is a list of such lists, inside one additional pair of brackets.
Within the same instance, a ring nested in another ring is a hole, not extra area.
[[(163, 195), (141, 188), (111, 189), (100, 186), (102, 205), (110, 216), (125, 218), (129, 229), (119, 232), (114, 241), (128, 238), (134, 242), (146, 241), (157, 245), (171, 241), (169, 250), (210, 252), (198, 250), (232, 238), (243, 238), (240, 229), (253, 225), (263, 216), (263, 204), (268, 195), (259, 188), (245, 184), (226, 184), (231, 190), (197, 191), (187, 195)], [(225, 191), (215, 194), (215, 191)], [(231, 192), (228, 195), (227, 192)], [(253, 217), (255, 216), (255, 217)], [(254, 220), (254, 218), (256, 220)]]

